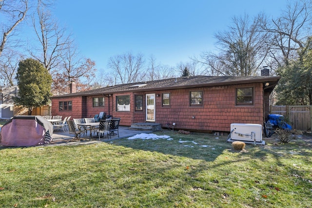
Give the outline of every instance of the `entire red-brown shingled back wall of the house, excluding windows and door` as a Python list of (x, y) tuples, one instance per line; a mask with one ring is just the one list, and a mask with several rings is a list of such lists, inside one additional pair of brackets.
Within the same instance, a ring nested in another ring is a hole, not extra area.
[[(254, 87), (253, 106), (235, 106), (236, 87)], [(203, 91), (203, 106), (193, 107), (189, 105), (190, 91)], [(222, 131), (229, 132), (231, 123), (263, 124), (263, 89), (262, 83), (203, 87), (194, 89), (174, 89), (153, 91), (149, 93), (159, 94), (156, 96), (156, 123), (163, 128), (167, 123), (175, 122), (176, 129), (192, 131)], [(161, 105), (162, 93), (170, 93), (170, 106)], [(143, 111), (135, 111), (134, 96), (143, 95)], [(146, 92), (114, 94), (110, 100), (110, 114), (120, 117), (120, 125), (131, 126), (132, 123), (145, 122), (145, 94)], [(130, 95), (130, 112), (116, 112), (116, 95)], [(100, 111), (108, 114), (108, 98), (105, 97), (104, 108), (93, 108), (92, 96), (84, 101), (81, 97), (66, 98), (73, 101), (72, 112), (59, 112), (59, 101), (64, 98), (52, 99), (52, 114), (68, 116), (72, 118), (93, 117)], [(114, 102), (113, 102), (114, 101)], [(83, 104), (85, 102), (85, 104)], [(86, 107), (85, 107), (86, 106)], [(86, 108), (84, 111), (81, 108)], [(83, 113), (82, 113), (83, 112)], [(194, 117), (194, 118), (193, 118)]]

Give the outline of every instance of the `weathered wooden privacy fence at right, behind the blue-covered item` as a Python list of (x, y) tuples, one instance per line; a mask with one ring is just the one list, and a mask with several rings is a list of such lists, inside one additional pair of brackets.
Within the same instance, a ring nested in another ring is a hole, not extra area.
[(271, 106), (271, 114), (284, 115), (290, 122), (293, 129), (302, 131), (311, 131), (312, 129), (312, 106), (300, 105), (300, 106)]

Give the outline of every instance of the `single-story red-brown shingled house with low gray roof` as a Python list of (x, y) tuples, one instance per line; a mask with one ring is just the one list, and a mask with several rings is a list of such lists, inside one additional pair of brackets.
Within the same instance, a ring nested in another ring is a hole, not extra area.
[(155, 122), (196, 132), (230, 131), (231, 123), (263, 124), (277, 76), (191, 76), (120, 84), (51, 97), (52, 115), (93, 117), (120, 125)]

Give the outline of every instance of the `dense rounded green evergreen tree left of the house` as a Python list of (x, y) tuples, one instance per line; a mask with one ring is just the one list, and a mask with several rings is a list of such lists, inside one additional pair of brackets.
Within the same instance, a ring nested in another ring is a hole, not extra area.
[(32, 58), (20, 61), (16, 79), (19, 93), (15, 103), (28, 108), (28, 115), (33, 108), (50, 102), (52, 77), (39, 61)]

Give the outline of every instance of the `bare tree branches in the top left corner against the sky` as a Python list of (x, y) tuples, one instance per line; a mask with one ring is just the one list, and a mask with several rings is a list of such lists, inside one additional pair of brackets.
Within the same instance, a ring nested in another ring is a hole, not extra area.
[(8, 39), (14, 36), (17, 26), (26, 17), (28, 11), (28, 0), (0, 0), (0, 19), (1, 22), (1, 43), (0, 56), (5, 48), (15, 47), (19, 40), (15, 39), (8, 44)]

